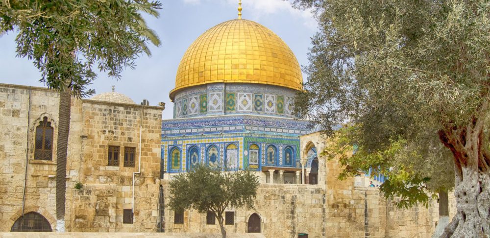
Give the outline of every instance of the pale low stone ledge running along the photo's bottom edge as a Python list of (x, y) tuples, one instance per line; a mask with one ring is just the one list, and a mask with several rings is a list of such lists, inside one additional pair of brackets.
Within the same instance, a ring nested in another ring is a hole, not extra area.
[[(50, 232), (7, 232), (0, 233), (0, 238), (221, 238), (221, 234), (205, 233), (50, 233)], [(264, 238), (263, 234), (257, 233), (229, 233), (229, 238)]]

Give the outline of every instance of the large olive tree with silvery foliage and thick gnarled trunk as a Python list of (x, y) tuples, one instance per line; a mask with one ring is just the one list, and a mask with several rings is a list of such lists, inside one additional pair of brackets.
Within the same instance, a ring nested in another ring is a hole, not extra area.
[[(442, 176), (445, 167), (424, 164), (424, 153), (444, 146), (454, 164), (457, 214), (443, 237), (490, 234), (490, 154), (486, 123), (490, 100), (490, 5), (487, 0), (295, 0), (312, 7), (319, 32), (312, 38), (308, 82), (296, 110), (322, 123), (327, 135), (348, 122), (364, 156), (382, 160), (415, 151), (421, 167)], [(426, 139), (423, 139), (424, 136)], [(437, 145), (431, 143), (438, 142)], [(435, 145), (435, 147), (430, 147)], [(360, 157), (359, 157), (360, 158)], [(400, 160), (399, 160), (400, 161)], [(347, 169), (355, 170), (349, 163)], [(402, 175), (403, 173), (400, 173)], [(392, 188), (425, 186), (388, 181)], [(417, 176), (417, 177), (416, 177)], [(431, 178), (433, 179), (434, 176)], [(393, 190), (397, 192), (396, 190)]]

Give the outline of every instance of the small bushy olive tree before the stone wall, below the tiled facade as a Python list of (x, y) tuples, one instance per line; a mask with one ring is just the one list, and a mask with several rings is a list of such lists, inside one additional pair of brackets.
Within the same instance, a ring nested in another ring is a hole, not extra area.
[(170, 182), (168, 206), (174, 211), (192, 208), (199, 213), (213, 212), (226, 238), (224, 211), (228, 207), (254, 209), (259, 184), (259, 177), (249, 170), (223, 172), (219, 167), (197, 165)]

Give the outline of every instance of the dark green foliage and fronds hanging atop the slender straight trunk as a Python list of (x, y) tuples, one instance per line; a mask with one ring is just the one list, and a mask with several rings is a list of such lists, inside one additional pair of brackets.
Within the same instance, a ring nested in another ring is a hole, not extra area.
[(0, 36), (17, 30), (17, 55), (33, 60), (49, 88), (92, 95), (87, 85), (94, 67), (120, 78), (147, 43), (160, 40), (141, 12), (158, 17), (158, 1), (148, 0), (2, 0)]

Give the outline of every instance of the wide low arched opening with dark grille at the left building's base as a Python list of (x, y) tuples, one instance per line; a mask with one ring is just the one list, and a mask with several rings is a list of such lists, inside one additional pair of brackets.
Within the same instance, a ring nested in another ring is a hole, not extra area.
[(15, 222), (11, 232), (52, 232), (51, 224), (43, 215), (35, 212), (24, 214)]

